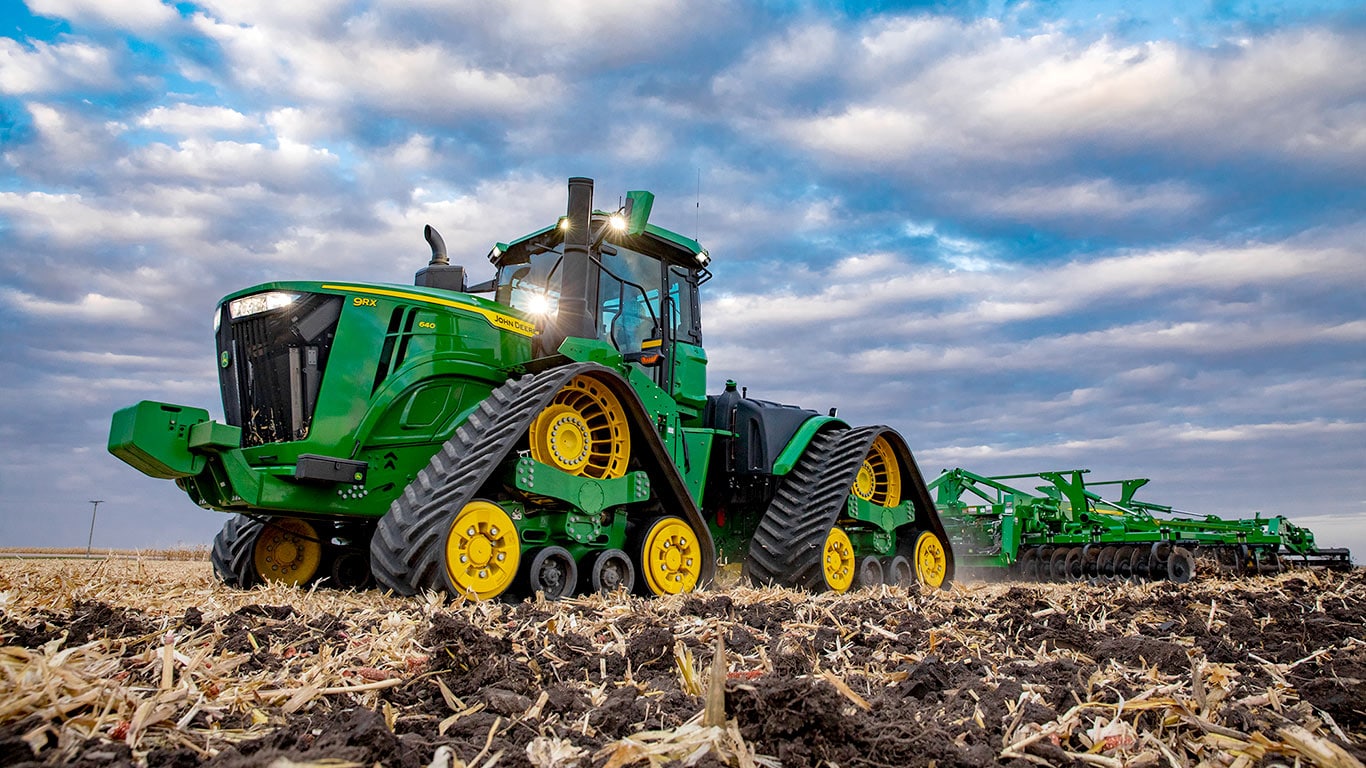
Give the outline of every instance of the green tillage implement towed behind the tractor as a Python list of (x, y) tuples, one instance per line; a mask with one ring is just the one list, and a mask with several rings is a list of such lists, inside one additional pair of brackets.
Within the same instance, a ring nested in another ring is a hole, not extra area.
[[(1347, 549), (1322, 549), (1284, 517), (1223, 519), (1139, 502), (1146, 478), (1091, 481), (1089, 470), (981, 476), (944, 470), (929, 488), (960, 568), (1008, 573), (1027, 581), (1169, 578), (1194, 575), (1212, 556), (1236, 574), (1288, 566), (1351, 567)], [(1007, 481), (1042, 480), (1033, 491)], [(1119, 486), (1119, 499), (1091, 488)]]

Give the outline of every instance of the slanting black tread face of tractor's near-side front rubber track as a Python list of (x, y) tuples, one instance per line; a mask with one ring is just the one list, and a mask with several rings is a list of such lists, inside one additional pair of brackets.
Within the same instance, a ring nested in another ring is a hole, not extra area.
[(531, 418), (582, 368), (523, 376), (489, 392), (380, 518), (370, 540), (370, 570), (381, 589), (404, 596), (447, 589), (441, 549), (449, 512), (474, 499)]

